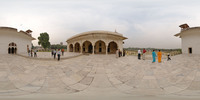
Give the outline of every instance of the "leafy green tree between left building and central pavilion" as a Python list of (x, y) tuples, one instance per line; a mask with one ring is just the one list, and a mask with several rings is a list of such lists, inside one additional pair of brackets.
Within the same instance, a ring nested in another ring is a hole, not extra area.
[(38, 37), (38, 44), (42, 45), (42, 47), (46, 50), (46, 48), (50, 47), (49, 42), (49, 34), (48, 33), (40, 33), (40, 36)]

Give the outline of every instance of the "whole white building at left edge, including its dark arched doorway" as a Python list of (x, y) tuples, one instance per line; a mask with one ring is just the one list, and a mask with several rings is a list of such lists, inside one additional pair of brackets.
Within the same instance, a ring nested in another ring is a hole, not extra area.
[(27, 53), (31, 49), (31, 30), (18, 32), (15, 28), (0, 27), (0, 54)]

